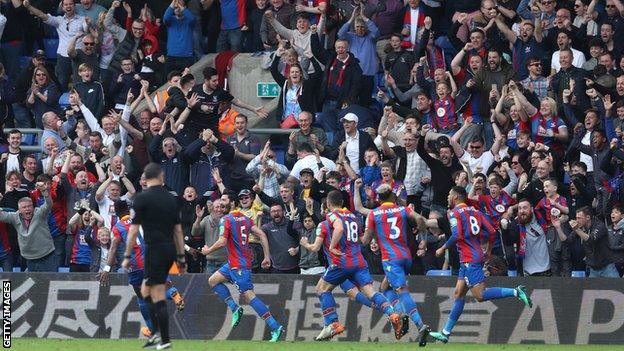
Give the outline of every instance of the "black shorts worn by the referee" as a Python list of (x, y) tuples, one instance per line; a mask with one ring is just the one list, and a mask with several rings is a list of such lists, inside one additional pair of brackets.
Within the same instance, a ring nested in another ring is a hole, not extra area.
[(173, 243), (145, 245), (145, 284), (165, 284), (169, 269), (175, 261), (176, 248)]

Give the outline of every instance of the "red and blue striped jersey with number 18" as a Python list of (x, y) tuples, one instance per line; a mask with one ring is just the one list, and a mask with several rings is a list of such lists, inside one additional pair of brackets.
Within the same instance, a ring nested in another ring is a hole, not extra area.
[[(330, 255), (331, 259), (329, 261), (331, 264), (341, 268), (368, 267), (360, 248), (359, 238), (362, 234), (362, 228), (358, 218), (349, 210), (343, 208), (328, 213), (326, 220), (329, 223), (329, 230), (327, 236), (323, 237), (323, 243)], [(342, 256), (336, 256), (329, 252), (329, 245), (334, 234), (334, 221), (342, 222), (342, 237), (337, 246), (337, 249), (343, 253)]]

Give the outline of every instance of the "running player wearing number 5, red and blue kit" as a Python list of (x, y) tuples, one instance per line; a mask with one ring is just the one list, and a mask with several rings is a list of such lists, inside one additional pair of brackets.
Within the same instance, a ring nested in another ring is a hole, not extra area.
[[(249, 237), (251, 233), (255, 234), (262, 244), (264, 260), (262, 260), (261, 265), (265, 269), (271, 266), (269, 242), (262, 229), (258, 228), (251, 219), (237, 209), (238, 199), (234, 197), (230, 201), (234, 201), (234, 203), (226, 202), (224, 204), (224, 211), (225, 213), (229, 212), (229, 214), (223, 216), (220, 220), (219, 239), (208, 248), (204, 246), (204, 249), (207, 250), (206, 255), (225, 246), (228, 253), (228, 263), (224, 264), (208, 278), (208, 284), (232, 310), (232, 327), (236, 327), (243, 316), (243, 308), (236, 304), (232, 299), (230, 290), (223, 284), (225, 282), (234, 283), (241, 296), (245, 298), (258, 316), (262, 317), (269, 328), (271, 328), (270, 341), (275, 342), (279, 340), (285, 329), (273, 318), (268, 307), (254, 293), (250, 270), (251, 248), (249, 246)], [(232, 207), (235, 209), (230, 211)]]

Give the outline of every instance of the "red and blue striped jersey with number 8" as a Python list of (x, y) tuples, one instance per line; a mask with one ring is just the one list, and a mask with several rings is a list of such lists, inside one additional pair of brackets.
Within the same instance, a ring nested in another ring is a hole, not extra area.
[(451, 237), (447, 240), (446, 247), (457, 245), (461, 263), (483, 263), (481, 243), (489, 241), (491, 245), (496, 239), (496, 230), (492, 223), (481, 211), (466, 204), (459, 204), (450, 210), (448, 220)]

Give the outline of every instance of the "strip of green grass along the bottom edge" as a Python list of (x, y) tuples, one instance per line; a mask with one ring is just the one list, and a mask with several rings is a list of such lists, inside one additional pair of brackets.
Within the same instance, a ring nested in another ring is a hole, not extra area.
[[(13, 339), (11, 350), (28, 351), (125, 351), (141, 350), (144, 340), (138, 339)], [(184, 351), (230, 351), (230, 350), (253, 350), (253, 351), (365, 351), (365, 350), (410, 350), (418, 349), (413, 343), (374, 343), (374, 342), (342, 342), (333, 341), (326, 343), (315, 342), (280, 342), (277, 344), (259, 341), (201, 341), (201, 340), (174, 340), (174, 349)], [(480, 345), (480, 344), (429, 344), (422, 350), (439, 351), (598, 351), (598, 350), (624, 350), (624, 346), (613, 345)]]

